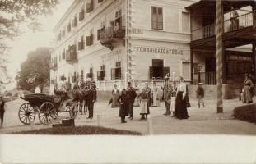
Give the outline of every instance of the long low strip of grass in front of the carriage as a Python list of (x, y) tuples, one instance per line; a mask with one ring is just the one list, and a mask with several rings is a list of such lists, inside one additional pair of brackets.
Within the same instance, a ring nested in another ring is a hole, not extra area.
[(54, 127), (40, 130), (14, 132), (12, 134), (54, 134), (54, 135), (86, 135), (86, 134), (111, 134), (111, 135), (142, 135), (128, 130), (115, 130), (96, 126)]

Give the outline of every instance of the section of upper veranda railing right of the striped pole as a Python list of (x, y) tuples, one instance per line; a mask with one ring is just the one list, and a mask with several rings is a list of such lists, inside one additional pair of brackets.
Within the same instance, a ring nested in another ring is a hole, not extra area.
[(245, 27), (254, 25), (253, 12), (230, 18), (229, 20), (224, 21), (224, 32), (230, 32), (234, 30), (240, 30)]

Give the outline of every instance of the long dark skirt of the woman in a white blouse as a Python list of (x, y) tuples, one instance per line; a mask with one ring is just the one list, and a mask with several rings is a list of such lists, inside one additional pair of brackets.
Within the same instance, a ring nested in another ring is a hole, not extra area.
[(182, 99), (183, 92), (178, 92), (175, 103), (175, 116), (179, 119), (189, 118), (186, 101)]

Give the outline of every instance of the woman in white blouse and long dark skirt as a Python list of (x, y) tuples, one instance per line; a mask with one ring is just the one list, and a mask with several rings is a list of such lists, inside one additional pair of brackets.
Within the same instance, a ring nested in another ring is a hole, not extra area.
[(188, 110), (186, 103), (187, 85), (184, 83), (183, 77), (179, 77), (179, 84), (177, 86), (175, 116), (179, 119), (188, 119)]

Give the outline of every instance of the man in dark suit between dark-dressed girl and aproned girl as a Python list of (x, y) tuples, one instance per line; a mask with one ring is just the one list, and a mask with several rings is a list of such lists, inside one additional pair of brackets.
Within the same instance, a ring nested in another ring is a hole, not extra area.
[(133, 120), (133, 103), (134, 103), (135, 98), (137, 97), (137, 93), (136, 93), (135, 89), (132, 87), (131, 82), (128, 82), (127, 95), (128, 95), (129, 119)]

